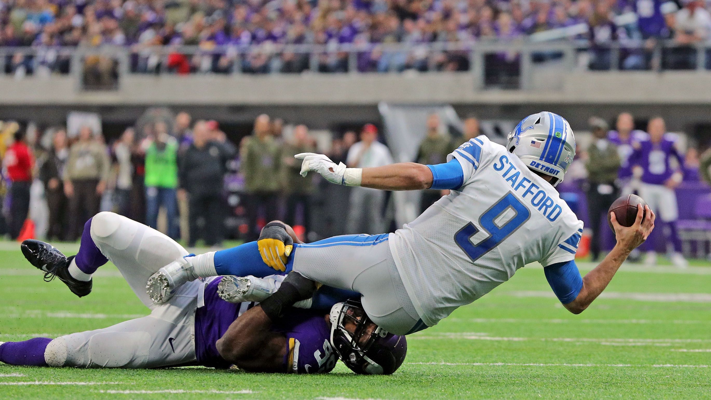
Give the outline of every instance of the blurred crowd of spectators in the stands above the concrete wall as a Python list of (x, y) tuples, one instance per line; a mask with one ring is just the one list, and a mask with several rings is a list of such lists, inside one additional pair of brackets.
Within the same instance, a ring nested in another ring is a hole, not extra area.
[[(623, 13), (634, 13), (636, 21), (618, 25), (615, 16)], [(344, 44), (362, 49), (355, 63), (361, 72), (461, 71), (469, 70), (466, 46), (476, 41), (509, 43), (580, 23), (584, 31), (560, 38), (587, 40), (589, 67), (602, 70), (613, 62), (612, 43), (624, 49), (618, 67), (653, 67), (653, 52), (665, 39), (680, 46), (665, 49), (665, 67), (695, 67), (693, 45), (711, 33), (703, 0), (0, 0), (0, 47), (36, 48), (32, 56), (4, 55), (5, 72), (18, 75), (66, 73), (71, 54), (60, 46), (102, 45), (131, 46), (134, 72), (304, 72), (312, 63), (319, 72), (346, 72), (353, 66), (338, 49)], [(464, 48), (431, 52), (421, 46), (433, 42)], [(279, 50), (309, 43), (326, 46), (315, 63), (309, 53)], [(387, 52), (387, 43), (412, 47)], [(199, 50), (151, 50), (159, 45)], [(560, 56), (540, 53), (534, 61)], [(504, 66), (518, 60), (516, 53), (492, 57)], [(87, 64), (109, 75), (115, 61)]]

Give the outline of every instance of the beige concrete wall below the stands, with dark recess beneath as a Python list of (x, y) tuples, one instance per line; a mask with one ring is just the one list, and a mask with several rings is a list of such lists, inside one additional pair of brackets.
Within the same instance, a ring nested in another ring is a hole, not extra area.
[(196, 117), (246, 123), (267, 112), (316, 128), (380, 119), (377, 104), (454, 104), (460, 115), (520, 119), (549, 109), (574, 127), (621, 109), (661, 114), (670, 129), (711, 121), (711, 74), (702, 72), (568, 72), (534, 70), (536, 90), (482, 90), (476, 75), (123, 75), (115, 92), (82, 92), (73, 77), (0, 78), (0, 119), (63, 121), (69, 110), (94, 111), (105, 121), (136, 119), (145, 107), (190, 109)]

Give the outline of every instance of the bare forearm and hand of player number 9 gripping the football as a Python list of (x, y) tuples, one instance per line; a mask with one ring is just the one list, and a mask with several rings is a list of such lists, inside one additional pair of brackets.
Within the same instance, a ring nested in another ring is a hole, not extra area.
[[(643, 218), (647, 215), (646, 218)], [(631, 227), (619, 225), (614, 212), (611, 213), (612, 226), (615, 229), (617, 243), (602, 262), (582, 279), (582, 289), (574, 301), (565, 304), (571, 313), (582, 313), (602, 293), (610, 283), (629, 253), (642, 244), (654, 229), (656, 215), (645, 205), (637, 206), (637, 219)]]

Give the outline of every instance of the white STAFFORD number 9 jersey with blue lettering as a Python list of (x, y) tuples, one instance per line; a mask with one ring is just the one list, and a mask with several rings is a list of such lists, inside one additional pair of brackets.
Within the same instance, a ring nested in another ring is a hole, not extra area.
[(464, 181), (390, 234), (390, 251), (422, 321), (435, 325), (533, 261), (570, 261), (582, 234), (557, 191), (484, 136), (449, 154)]

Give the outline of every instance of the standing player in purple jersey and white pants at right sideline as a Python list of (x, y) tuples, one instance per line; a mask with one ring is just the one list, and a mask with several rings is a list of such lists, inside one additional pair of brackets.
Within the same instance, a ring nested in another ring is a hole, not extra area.
[[(679, 210), (674, 190), (683, 179), (680, 166), (684, 158), (679, 153), (674, 136), (666, 133), (664, 119), (650, 119), (647, 131), (649, 138), (634, 144), (630, 163), (634, 166), (634, 174), (641, 178), (639, 195), (668, 225), (669, 229), (665, 232), (668, 232), (668, 240), (674, 247), (671, 261), (683, 268), (687, 261), (681, 255), (681, 241), (676, 229)], [(656, 264), (653, 243), (646, 242), (644, 246), (647, 249), (646, 264)]]

